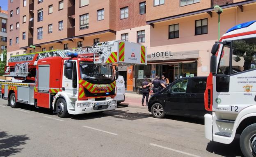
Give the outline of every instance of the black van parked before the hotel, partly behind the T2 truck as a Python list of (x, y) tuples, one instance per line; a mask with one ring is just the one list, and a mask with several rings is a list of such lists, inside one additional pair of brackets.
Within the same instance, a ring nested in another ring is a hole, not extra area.
[(203, 118), (204, 91), (207, 77), (184, 77), (154, 93), (149, 99), (149, 112), (155, 118), (166, 114)]

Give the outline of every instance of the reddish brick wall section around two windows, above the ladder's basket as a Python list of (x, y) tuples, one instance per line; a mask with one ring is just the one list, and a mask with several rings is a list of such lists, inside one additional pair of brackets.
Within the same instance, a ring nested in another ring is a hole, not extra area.
[[(146, 0), (117, 0), (117, 31), (146, 25), (146, 14), (139, 15), (139, 3)], [(128, 7), (128, 18), (120, 19), (120, 9)]]

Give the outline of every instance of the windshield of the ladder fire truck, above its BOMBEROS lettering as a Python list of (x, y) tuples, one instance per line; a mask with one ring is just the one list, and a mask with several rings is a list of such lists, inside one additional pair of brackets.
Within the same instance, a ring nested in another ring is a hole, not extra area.
[(81, 79), (91, 83), (112, 83), (114, 81), (113, 68), (110, 64), (94, 64), (80, 61)]

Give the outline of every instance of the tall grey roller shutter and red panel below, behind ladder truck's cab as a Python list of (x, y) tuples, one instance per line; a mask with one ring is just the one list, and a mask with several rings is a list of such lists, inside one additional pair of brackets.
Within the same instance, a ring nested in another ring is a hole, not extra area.
[(38, 99), (37, 106), (43, 108), (50, 108), (50, 65), (38, 66)]

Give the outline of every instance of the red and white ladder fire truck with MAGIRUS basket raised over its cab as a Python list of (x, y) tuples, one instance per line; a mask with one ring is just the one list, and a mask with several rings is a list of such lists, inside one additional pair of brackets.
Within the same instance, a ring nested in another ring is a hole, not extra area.
[(145, 65), (146, 48), (113, 40), (92, 47), (12, 56), (5, 71), (12, 81), (0, 82), (1, 96), (12, 108), (25, 103), (51, 108), (59, 117), (114, 110), (119, 72), (113, 63)]

